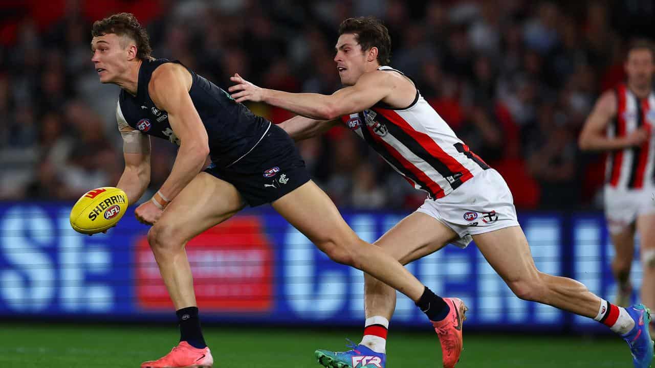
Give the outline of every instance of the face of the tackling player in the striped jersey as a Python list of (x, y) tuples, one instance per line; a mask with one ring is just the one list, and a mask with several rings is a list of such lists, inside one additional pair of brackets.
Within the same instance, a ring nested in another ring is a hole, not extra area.
[(337, 54), (334, 61), (337, 63), (341, 84), (352, 86), (364, 74), (366, 54), (352, 33), (339, 36), (335, 49)]

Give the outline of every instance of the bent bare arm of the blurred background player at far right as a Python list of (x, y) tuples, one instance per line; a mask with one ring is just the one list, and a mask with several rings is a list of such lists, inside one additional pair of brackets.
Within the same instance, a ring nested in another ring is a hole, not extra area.
[(578, 145), (583, 151), (611, 151), (641, 145), (650, 134), (648, 126), (633, 131), (628, 136), (608, 138), (605, 136), (607, 124), (616, 117), (616, 93), (607, 91), (601, 95), (584, 123)]

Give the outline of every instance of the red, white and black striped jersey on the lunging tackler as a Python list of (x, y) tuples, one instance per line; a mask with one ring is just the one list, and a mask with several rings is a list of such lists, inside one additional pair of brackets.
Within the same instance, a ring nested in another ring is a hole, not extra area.
[[(388, 66), (379, 70), (398, 72)], [(382, 102), (341, 117), (394, 170), (430, 198), (446, 196), (489, 166), (455, 136), (455, 132), (417, 89), (405, 109)]]

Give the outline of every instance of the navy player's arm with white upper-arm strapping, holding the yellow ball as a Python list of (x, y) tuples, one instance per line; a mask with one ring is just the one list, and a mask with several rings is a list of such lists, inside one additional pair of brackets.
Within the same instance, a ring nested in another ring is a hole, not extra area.
[(116, 185), (127, 194), (128, 203), (136, 203), (150, 183), (150, 137), (132, 129), (117, 107), (116, 120), (123, 140), (125, 170)]

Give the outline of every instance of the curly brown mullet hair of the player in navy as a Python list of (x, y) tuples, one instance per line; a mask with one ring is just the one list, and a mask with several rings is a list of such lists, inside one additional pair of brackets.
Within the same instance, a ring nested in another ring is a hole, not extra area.
[(153, 49), (150, 47), (150, 37), (136, 16), (132, 13), (113, 14), (103, 20), (96, 20), (91, 35), (93, 37), (114, 33), (117, 36), (128, 36), (136, 43), (136, 57), (141, 60), (151, 59)]

